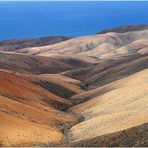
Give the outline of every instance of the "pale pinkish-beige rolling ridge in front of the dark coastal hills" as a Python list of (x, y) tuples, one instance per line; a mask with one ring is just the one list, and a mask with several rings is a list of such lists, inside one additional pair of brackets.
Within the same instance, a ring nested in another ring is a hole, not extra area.
[[(147, 53), (148, 50), (145, 49), (147, 47), (147, 44), (145, 44), (147, 39), (148, 30), (126, 33), (110, 32), (94, 36), (77, 37), (49, 46), (20, 49), (18, 52), (43, 56), (49, 56), (50, 54), (81, 54), (99, 58), (109, 58), (118, 54)], [(135, 41), (139, 42), (141, 46), (135, 48)], [(128, 44), (129, 47), (127, 46)], [(126, 46), (126, 49), (117, 50), (124, 46)], [(135, 49), (131, 52), (132, 48)]]

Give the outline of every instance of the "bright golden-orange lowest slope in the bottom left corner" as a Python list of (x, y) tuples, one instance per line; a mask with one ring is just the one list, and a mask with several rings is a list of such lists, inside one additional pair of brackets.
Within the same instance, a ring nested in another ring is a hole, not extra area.
[(1, 146), (51, 144), (61, 142), (63, 138), (57, 128), (22, 120), (3, 112), (0, 112), (0, 120)]

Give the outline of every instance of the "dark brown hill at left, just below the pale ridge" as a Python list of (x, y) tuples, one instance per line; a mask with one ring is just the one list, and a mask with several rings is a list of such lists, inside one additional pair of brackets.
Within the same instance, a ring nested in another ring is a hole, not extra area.
[(91, 57), (52, 55), (50, 57), (0, 52), (0, 68), (19, 73), (59, 73), (90, 65), (97, 60)]

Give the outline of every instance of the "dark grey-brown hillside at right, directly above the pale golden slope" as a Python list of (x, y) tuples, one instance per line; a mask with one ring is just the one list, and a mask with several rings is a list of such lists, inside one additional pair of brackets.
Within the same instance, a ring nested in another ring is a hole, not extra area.
[(102, 60), (100, 63), (63, 74), (81, 80), (82, 86), (98, 87), (148, 68), (148, 54)]

